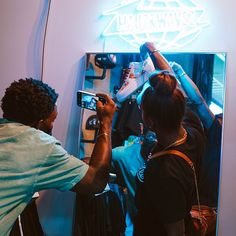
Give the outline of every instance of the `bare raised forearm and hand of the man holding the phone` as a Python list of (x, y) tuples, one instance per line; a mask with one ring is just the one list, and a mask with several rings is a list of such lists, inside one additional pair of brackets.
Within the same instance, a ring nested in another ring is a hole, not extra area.
[(98, 93), (97, 96), (106, 100), (104, 104), (101, 101), (97, 102), (97, 116), (100, 122), (97, 140), (89, 162), (89, 169), (84, 178), (73, 188), (73, 191), (85, 194), (98, 193), (105, 188), (111, 162), (111, 128), (116, 106), (108, 95)]

